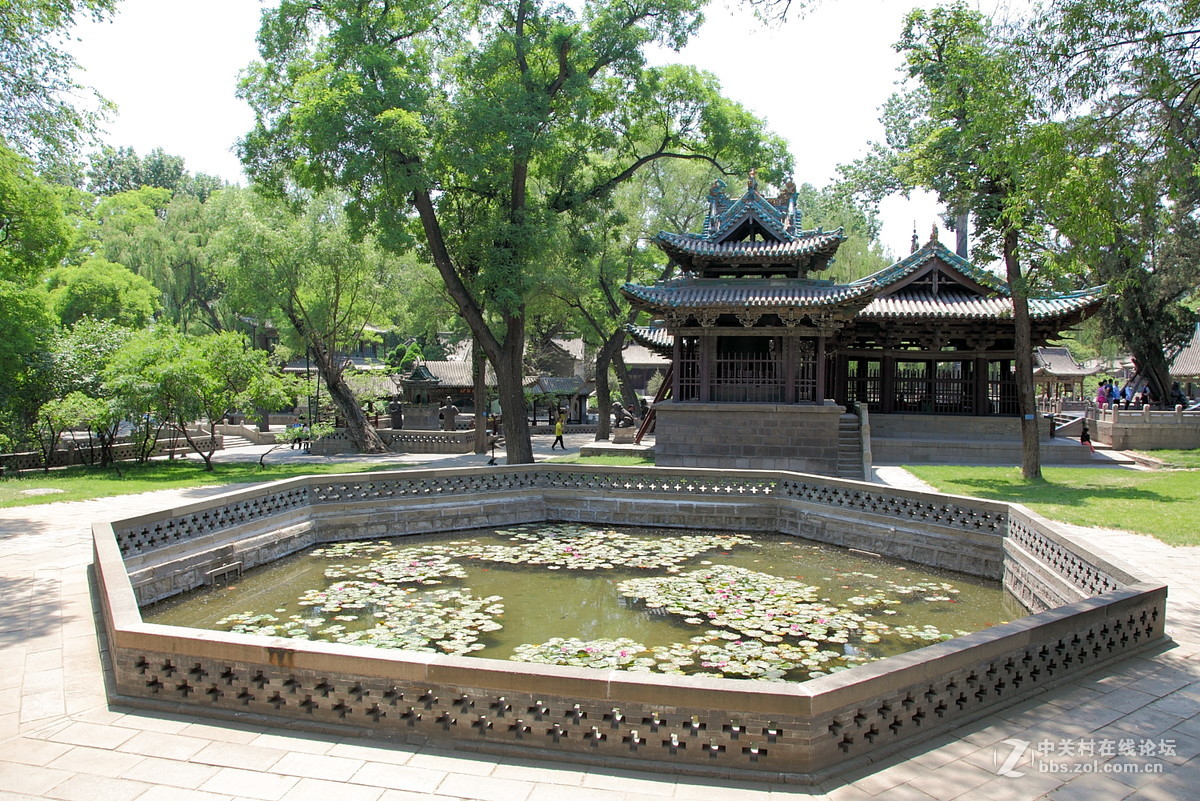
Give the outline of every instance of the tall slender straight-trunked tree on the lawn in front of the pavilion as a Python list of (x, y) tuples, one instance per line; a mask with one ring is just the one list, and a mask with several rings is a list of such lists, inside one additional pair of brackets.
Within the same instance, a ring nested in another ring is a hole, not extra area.
[(1002, 47), (983, 16), (961, 1), (912, 11), (896, 49), (916, 86), (886, 107), (887, 145), (877, 145), (850, 174), (880, 170), (864, 182), (868, 192), (916, 186), (936, 192), (956, 213), (968, 211), (974, 218), (980, 235), (976, 257), (1003, 259), (1013, 302), (1021, 472), (1038, 478), (1030, 279), (1021, 259), (1030, 231), (1040, 234), (1043, 222), (1036, 185), (1045, 120), (1016, 53)]

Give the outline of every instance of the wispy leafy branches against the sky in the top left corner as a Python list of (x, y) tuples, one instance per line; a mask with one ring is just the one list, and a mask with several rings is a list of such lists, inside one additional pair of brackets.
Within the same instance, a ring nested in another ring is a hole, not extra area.
[(78, 66), (61, 48), (77, 19), (103, 20), (116, 0), (5, 0), (0, 4), (0, 139), (38, 162), (70, 157), (107, 108), (76, 108)]

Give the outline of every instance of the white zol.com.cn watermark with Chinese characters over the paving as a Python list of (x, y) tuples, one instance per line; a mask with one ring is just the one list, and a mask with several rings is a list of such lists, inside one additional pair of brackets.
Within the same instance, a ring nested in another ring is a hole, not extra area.
[(1045, 737), (1034, 745), (1010, 737), (996, 743), (992, 764), (997, 776), (1008, 778), (1027, 772), (1162, 773), (1157, 760), (1175, 757), (1175, 748), (1174, 739)]

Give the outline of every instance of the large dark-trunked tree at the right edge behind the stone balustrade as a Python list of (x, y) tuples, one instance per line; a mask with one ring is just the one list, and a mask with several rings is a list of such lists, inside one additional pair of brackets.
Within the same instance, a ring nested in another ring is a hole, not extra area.
[(1057, 0), (1019, 43), (1046, 103), (1068, 118), (1056, 259), (1109, 285), (1105, 331), (1165, 401), (1165, 351), (1194, 330), (1184, 302), (1200, 283), (1200, 6)]

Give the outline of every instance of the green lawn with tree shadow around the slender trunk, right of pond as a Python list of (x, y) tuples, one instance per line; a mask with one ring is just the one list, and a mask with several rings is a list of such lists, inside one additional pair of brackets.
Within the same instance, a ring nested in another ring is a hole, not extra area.
[(1200, 544), (1200, 476), (1190, 470), (1043, 468), (1043, 481), (1025, 481), (1020, 468), (905, 469), (944, 493), (1024, 504), (1055, 520), (1148, 534), (1170, 546)]

